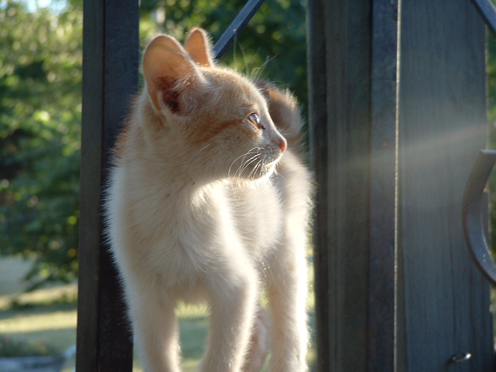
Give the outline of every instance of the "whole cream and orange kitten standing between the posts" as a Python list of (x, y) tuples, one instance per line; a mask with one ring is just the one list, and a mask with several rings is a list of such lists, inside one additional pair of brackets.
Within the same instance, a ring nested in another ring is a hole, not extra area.
[[(144, 370), (179, 371), (177, 302), (211, 310), (203, 372), (307, 369), (310, 175), (295, 99), (215, 66), (201, 29), (158, 36), (121, 134), (108, 235)], [(281, 135), (286, 135), (286, 139)], [(289, 144), (288, 144), (289, 143)]]

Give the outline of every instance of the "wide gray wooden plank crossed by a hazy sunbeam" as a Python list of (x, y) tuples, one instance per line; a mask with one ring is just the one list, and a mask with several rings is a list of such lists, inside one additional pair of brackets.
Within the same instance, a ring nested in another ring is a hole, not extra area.
[[(399, 244), (408, 371), (492, 371), (489, 286), (471, 261), (461, 203), (486, 142), (484, 23), (469, 1), (403, 1)], [(454, 354), (470, 362), (449, 365)]]

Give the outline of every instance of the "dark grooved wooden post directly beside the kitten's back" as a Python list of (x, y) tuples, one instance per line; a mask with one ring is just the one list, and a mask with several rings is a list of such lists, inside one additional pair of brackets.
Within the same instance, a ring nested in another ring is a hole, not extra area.
[(319, 371), (367, 370), (370, 14), (366, 0), (309, 1)]

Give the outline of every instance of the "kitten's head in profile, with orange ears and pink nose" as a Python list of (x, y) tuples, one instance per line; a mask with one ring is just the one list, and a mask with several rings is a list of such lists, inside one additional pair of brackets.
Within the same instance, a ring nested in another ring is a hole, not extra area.
[[(207, 179), (257, 179), (273, 172), (287, 142), (278, 132), (263, 95), (238, 73), (218, 68), (201, 29), (183, 48), (156, 37), (143, 56), (144, 116), (150, 146), (163, 161)], [(167, 156), (166, 156), (167, 154)]]

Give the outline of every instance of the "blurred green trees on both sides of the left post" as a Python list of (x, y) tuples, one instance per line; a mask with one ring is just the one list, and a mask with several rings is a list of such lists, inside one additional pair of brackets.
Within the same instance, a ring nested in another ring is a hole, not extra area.
[[(30, 288), (77, 275), (82, 0), (54, 11), (0, 1), (0, 254), (34, 259)], [(156, 33), (216, 41), (245, 0), (141, 0)], [(220, 63), (293, 90), (306, 112), (305, 4), (266, 0)]]

